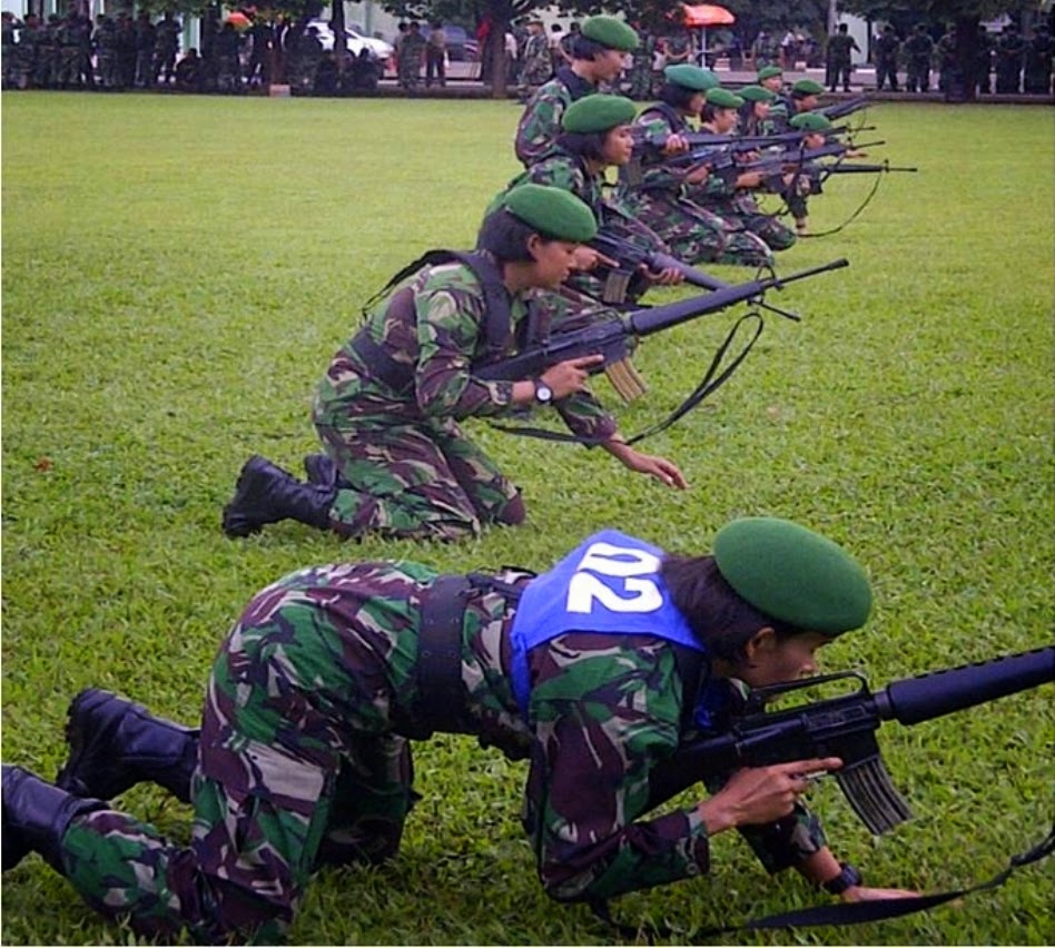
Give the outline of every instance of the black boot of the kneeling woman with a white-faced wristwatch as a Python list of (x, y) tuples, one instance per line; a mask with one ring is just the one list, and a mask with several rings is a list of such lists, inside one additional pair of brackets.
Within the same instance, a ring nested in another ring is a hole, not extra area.
[(335, 492), (332, 485), (302, 484), (267, 458), (254, 455), (238, 475), (234, 500), (224, 507), (224, 533), (248, 536), (264, 524), (287, 517), (327, 530)]

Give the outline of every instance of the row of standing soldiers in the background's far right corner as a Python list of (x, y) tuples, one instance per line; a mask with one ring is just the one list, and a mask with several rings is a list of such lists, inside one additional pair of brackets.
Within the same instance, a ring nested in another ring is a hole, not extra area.
[(1051, 95), (1055, 39), (1046, 23), (1039, 23), (1033, 37), (1025, 39), (1014, 23), (994, 37), (984, 26), (978, 27), (975, 53), (970, 63), (973, 75), (960, 76), (957, 38), (953, 27), (935, 42), (926, 23), (917, 23), (904, 41), (893, 26), (884, 28), (872, 46), (876, 63), (876, 88), (889, 86), (899, 91), (897, 71), (906, 72), (905, 88), (909, 92), (930, 91), (931, 71), (939, 72), (938, 89), (948, 92), (954, 82), (970, 86), (978, 92), (994, 91), (995, 73), (998, 95)]

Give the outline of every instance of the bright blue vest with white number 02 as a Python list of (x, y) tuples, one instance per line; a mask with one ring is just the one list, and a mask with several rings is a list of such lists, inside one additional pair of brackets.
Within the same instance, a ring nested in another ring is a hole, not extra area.
[(565, 632), (654, 635), (706, 652), (660, 577), (663, 551), (615, 530), (593, 534), (520, 598), (510, 643), (512, 684), (528, 718), (528, 652)]

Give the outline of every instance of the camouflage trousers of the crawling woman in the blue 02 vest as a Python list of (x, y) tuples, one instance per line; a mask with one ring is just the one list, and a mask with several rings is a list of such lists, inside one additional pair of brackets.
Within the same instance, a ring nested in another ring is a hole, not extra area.
[[(407, 743), (390, 730), (391, 689), (413, 663), (384, 655), (414, 654), (401, 639), (416, 620), (405, 606), (385, 611), (386, 624), (357, 613), (372, 593), (404, 602), (414, 580), (410, 566), (338, 564), (258, 593), (213, 666), (189, 846), (116, 810), (75, 818), (63, 875), (89, 905), (128, 917), (140, 936), (275, 944), (325, 835), (386, 828), (397, 847), (413, 794)], [(327, 609), (327, 594), (343, 609)]]

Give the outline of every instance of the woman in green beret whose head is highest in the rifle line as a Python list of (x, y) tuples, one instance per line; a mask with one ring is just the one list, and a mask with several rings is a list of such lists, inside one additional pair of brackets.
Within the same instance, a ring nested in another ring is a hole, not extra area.
[(614, 17), (590, 17), (572, 47), (572, 65), (532, 96), (516, 127), (514, 150), (530, 168), (554, 147), (561, 134), (561, 116), (572, 102), (598, 91), (601, 83), (619, 79), (627, 53), (638, 47), (638, 34)]

